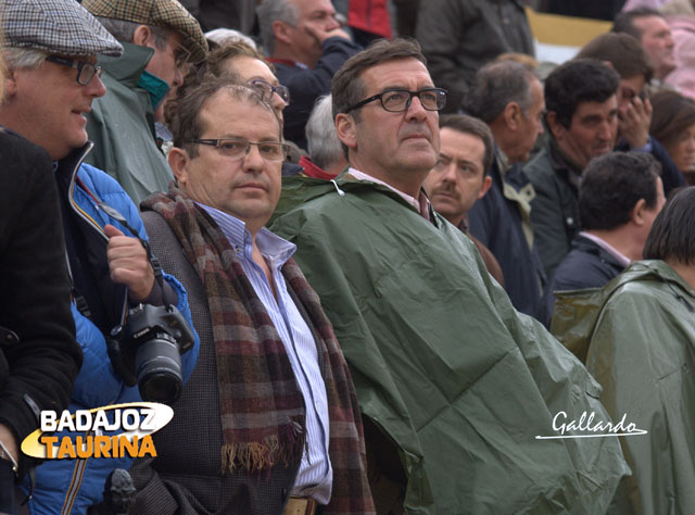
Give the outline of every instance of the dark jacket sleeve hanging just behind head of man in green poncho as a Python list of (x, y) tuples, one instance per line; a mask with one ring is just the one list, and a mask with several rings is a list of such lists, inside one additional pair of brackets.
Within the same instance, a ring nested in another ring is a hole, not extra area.
[[(465, 51), (460, 43), (467, 24), (467, 3), (462, 0), (430, 0), (421, 2), (416, 36), (427, 58), (427, 68), (434, 85), (447, 90), (446, 104), (456, 111), (464, 100), (468, 85), (462, 77), (458, 55)], [(470, 12), (470, 11), (468, 11)]]

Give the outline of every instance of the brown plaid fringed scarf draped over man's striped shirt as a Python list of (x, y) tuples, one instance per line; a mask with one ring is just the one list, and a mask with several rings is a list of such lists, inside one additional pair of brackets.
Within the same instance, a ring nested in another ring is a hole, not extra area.
[[(304, 400), (285, 344), (226, 236), (174, 183), (167, 194), (152, 194), (142, 209), (166, 219), (205, 289), (217, 359), (223, 474), (296, 464), (305, 443)], [(318, 296), (293, 260), (282, 275), (314, 335), (326, 385), (333, 487), (323, 513), (375, 513), (348, 364)]]

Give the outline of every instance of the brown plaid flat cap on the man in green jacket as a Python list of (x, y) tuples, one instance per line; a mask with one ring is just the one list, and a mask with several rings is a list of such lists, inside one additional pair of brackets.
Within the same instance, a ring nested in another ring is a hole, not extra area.
[(207, 41), (198, 21), (176, 0), (83, 0), (83, 5), (94, 16), (176, 30), (184, 36), (184, 47), (193, 62), (207, 54)]

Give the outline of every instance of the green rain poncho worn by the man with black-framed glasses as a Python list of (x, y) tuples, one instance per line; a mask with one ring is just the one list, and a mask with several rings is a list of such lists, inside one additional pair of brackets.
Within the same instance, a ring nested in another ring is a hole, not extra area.
[(535, 439), (559, 411), (608, 419), (599, 387), (468, 238), (364, 181), (286, 177), (279, 208), (271, 228), (298, 246), (363, 413), (399, 447), (406, 513), (605, 512), (627, 473), (618, 442)]

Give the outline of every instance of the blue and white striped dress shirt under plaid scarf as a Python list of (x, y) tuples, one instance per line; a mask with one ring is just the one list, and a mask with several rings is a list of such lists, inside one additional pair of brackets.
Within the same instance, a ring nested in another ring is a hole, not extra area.
[(280, 335), (290, 359), (294, 377), (306, 406), (306, 441), (292, 495), (311, 497), (328, 504), (333, 470), (328, 457), (328, 400), (318, 368), (316, 341), (306, 322), (287, 291), (280, 268), (296, 247), (263, 227), (256, 234), (256, 246), (273, 273), (277, 300), (263, 269), (252, 259), (252, 238), (240, 219), (208, 205), (198, 203), (217, 223), (237, 253), (251, 286), (263, 302)]

